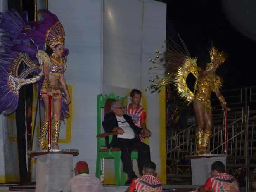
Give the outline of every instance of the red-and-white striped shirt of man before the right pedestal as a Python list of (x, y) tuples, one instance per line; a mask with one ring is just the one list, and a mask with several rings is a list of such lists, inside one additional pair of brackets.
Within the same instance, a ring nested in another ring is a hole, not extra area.
[(239, 192), (238, 183), (232, 175), (219, 173), (206, 180), (204, 189), (206, 191), (213, 189), (213, 192)]

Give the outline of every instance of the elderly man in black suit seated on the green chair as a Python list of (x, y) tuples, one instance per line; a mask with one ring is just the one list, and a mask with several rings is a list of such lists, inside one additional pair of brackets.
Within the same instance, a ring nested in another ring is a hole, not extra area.
[(138, 168), (142, 175), (143, 165), (151, 161), (150, 147), (140, 142), (139, 133), (145, 134), (146, 137), (151, 136), (150, 130), (147, 128), (139, 128), (135, 126), (130, 116), (124, 114), (125, 107), (121, 101), (114, 101), (111, 104), (111, 113), (104, 116), (102, 122), (106, 133), (117, 131), (117, 135), (113, 136), (112, 142), (107, 147), (118, 147), (121, 149), (121, 160), (123, 162), (123, 171), (127, 173), (128, 180), (126, 185), (130, 185), (134, 178), (137, 178), (133, 171), (131, 152), (133, 149), (138, 150)]

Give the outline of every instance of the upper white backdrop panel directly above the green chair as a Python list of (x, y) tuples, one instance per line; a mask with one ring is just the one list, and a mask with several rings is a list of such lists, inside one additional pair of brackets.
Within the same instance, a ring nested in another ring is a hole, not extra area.
[(143, 3), (104, 0), (103, 5), (103, 91), (109, 92), (109, 85), (140, 86)]

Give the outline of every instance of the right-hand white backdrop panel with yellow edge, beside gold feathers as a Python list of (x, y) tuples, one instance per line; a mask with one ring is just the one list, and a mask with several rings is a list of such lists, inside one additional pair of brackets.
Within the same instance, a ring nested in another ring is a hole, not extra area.
[[(149, 67), (154, 59), (156, 50), (164, 50), (166, 39), (166, 5), (156, 1), (147, 1), (144, 5), (142, 33), (142, 90), (149, 86)], [(158, 74), (164, 71), (157, 70)], [(159, 93), (144, 91), (143, 102), (147, 106), (147, 126), (152, 131), (149, 138), (152, 161), (157, 164), (157, 172), (161, 180), (166, 180), (166, 151), (165, 151), (165, 89)]]

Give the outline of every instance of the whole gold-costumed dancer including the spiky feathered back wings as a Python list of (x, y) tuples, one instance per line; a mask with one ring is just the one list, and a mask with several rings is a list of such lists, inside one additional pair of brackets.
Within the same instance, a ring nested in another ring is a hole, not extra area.
[[(223, 51), (219, 52), (216, 47), (211, 47), (211, 63), (206, 64), (206, 69), (201, 69), (197, 66), (197, 58), (190, 57), (190, 54), (183, 42), (182, 44), (185, 51), (183, 51), (174, 41), (172, 41), (172, 44), (168, 44), (169, 48), (164, 52), (164, 58), (161, 58), (159, 61), (159, 64), (165, 68), (165, 76), (162, 79), (159, 78), (157, 83), (152, 84), (149, 90), (153, 89), (151, 92), (155, 92), (159, 90), (162, 85), (168, 85), (171, 83), (175, 86), (180, 97), (185, 98), (188, 104), (193, 102), (195, 116), (197, 119), (197, 154), (210, 154), (207, 151), (207, 147), (209, 137), (212, 133), (211, 128), (213, 126), (210, 100), (212, 91), (215, 92), (218, 97), (223, 111), (230, 111), (224, 97), (219, 91), (222, 87), (222, 80), (215, 74), (215, 71), (220, 64), (225, 62), (227, 55)], [(159, 51), (156, 51), (156, 53), (159, 53)], [(159, 56), (156, 55), (156, 58), (158, 59)], [(156, 64), (157, 59), (150, 59), (150, 61), (152, 61), (153, 64)], [(157, 66), (155, 66), (155, 68), (156, 67)], [(196, 78), (194, 92), (187, 87), (186, 80), (189, 73), (192, 73)], [(154, 82), (154, 80), (149, 81)]]

